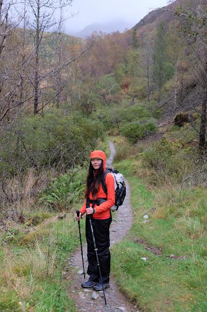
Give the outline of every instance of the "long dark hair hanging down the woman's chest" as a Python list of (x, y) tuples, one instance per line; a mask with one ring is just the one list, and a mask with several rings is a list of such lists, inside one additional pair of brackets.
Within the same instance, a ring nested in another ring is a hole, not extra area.
[(104, 173), (103, 160), (102, 160), (100, 168), (97, 170), (96, 173), (90, 161), (87, 179), (86, 179), (85, 198), (89, 197), (90, 191), (92, 192), (92, 196), (96, 198), (96, 195), (99, 191), (99, 186), (102, 183), (103, 173)]

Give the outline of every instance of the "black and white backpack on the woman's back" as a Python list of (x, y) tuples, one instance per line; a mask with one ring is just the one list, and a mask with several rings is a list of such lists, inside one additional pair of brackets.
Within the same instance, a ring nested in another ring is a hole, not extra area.
[(119, 206), (122, 205), (125, 195), (126, 195), (126, 184), (123, 181), (123, 175), (117, 170), (106, 169), (102, 177), (102, 188), (104, 193), (107, 195), (107, 187), (105, 184), (105, 177), (108, 173), (111, 173), (114, 177), (114, 187), (115, 187), (115, 204), (111, 207), (111, 211), (118, 210)]

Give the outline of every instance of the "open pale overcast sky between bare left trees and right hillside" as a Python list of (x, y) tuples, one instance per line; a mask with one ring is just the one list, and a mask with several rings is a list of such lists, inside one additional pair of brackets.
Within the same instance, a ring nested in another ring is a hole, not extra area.
[(167, 3), (168, 0), (73, 0), (67, 15), (70, 12), (77, 15), (66, 21), (65, 28), (79, 31), (89, 24), (111, 20), (126, 20), (132, 27), (150, 11)]

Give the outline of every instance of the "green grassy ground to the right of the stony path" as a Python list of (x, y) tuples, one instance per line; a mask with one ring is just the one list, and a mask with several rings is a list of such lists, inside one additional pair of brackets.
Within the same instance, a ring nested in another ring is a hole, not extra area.
[[(114, 164), (130, 183), (134, 224), (128, 237), (112, 248), (112, 273), (121, 291), (143, 312), (205, 312), (206, 191), (179, 185), (148, 187), (146, 179), (139, 179), (136, 158)], [(138, 237), (161, 248), (161, 256), (145, 250), (136, 242)], [(186, 258), (172, 259), (171, 254)], [(149, 259), (144, 262), (141, 257)]]

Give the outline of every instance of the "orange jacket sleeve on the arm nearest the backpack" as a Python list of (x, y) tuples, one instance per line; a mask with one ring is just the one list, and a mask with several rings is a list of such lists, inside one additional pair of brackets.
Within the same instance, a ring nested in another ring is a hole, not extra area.
[(96, 206), (96, 213), (102, 213), (109, 210), (115, 204), (115, 188), (114, 188), (114, 177), (111, 173), (108, 173), (105, 177), (105, 184), (107, 187), (107, 200), (104, 201), (100, 206)]

